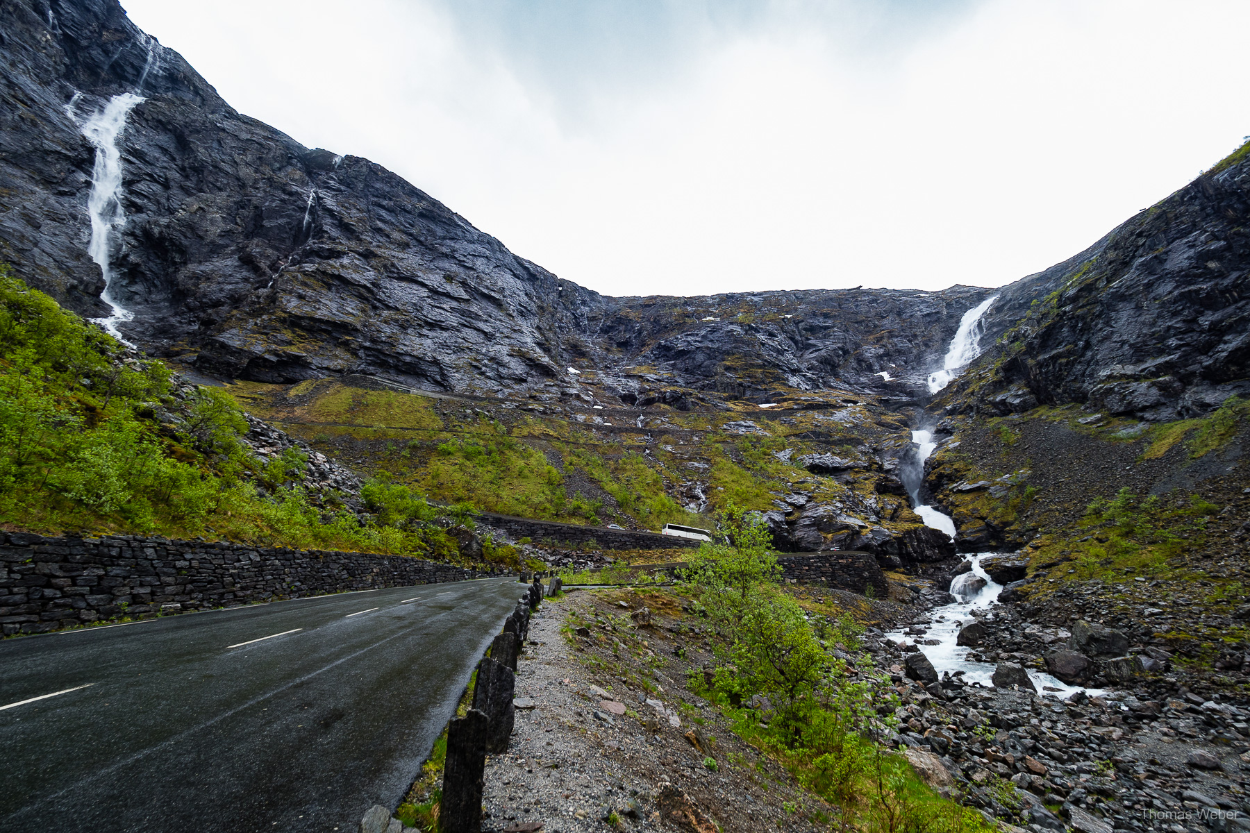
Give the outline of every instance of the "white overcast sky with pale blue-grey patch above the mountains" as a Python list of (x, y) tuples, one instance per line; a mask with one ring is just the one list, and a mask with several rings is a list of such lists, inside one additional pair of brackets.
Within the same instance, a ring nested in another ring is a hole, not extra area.
[(999, 285), (1250, 134), (1245, 0), (124, 0), (610, 295)]

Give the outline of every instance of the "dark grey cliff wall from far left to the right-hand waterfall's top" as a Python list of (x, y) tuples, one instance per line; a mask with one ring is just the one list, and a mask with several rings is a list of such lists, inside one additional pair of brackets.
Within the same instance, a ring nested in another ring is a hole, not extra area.
[[(2, 15), (4, 257), (69, 307), (108, 311), (86, 254), (95, 149), (80, 126), (111, 96), (144, 96), (118, 139), (125, 224), (112, 295), (135, 313), (128, 338), (202, 372), (375, 373), (506, 395), (559, 388), (582, 361), (654, 366), (670, 385), (729, 396), (834, 380), (882, 387), (876, 373), (922, 380), (985, 295), (605, 298), (385, 169), (234, 111), (116, 2), (9, 0)], [(646, 383), (620, 381), (646, 398)], [(906, 382), (898, 392), (910, 396)]]

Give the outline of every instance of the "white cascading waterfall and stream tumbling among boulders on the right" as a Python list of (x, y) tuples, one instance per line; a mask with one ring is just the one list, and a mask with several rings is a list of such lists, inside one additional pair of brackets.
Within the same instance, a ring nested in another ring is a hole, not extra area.
[[(985, 311), (990, 308), (990, 305), (994, 303), (995, 298), (998, 298), (996, 295), (964, 313), (959, 331), (951, 340), (950, 350), (946, 352), (945, 367), (929, 377), (929, 391), (931, 393), (936, 393), (946, 387), (959, 371), (971, 363), (980, 353), (982, 331), (980, 320), (985, 315)], [(920, 493), (925, 480), (925, 461), (938, 448), (938, 443), (934, 442), (932, 430), (921, 428), (912, 431), (911, 441), (916, 443), (916, 453), (904, 463), (900, 476), (904, 487), (908, 490), (908, 495), (911, 497), (914, 511), (925, 522), (925, 526), (940, 530), (954, 540), (955, 521), (932, 506), (920, 502)], [(998, 601), (999, 593), (1002, 592), (1002, 586), (990, 578), (989, 573), (981, 568), (981, 555), (965, 555), (964, 559), (971, 561), (971, 569), (951, 579), (949, 592), (955, 597), (955, 601), (932, 611), (932, 619), (926, 638), (918, 647), (929, 658), (929, 662), (932, 663), (939, 674), (960, 674), (965, 682), (986, 684), (991, 682), (994, 666), (984, 662), (970, 662), (968, 659), (969, 649), (958, 646), (956, 639), (960, 628), (971, 618), (975, 618), (974, 612), (980, 612)], [(906, 639), (906, 634), (901, 631), (896, 631), (889, 636), (896, 641)], [(1050, 674), (1036, 671), (1030, 671), (1029, 677), (1038, 686), (1039, 691), (1048, 694), (1066, 697), (1074, 692), (1085, 691), (1068, 686)]]

